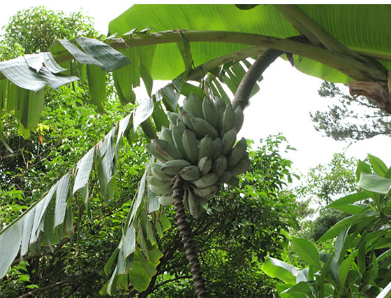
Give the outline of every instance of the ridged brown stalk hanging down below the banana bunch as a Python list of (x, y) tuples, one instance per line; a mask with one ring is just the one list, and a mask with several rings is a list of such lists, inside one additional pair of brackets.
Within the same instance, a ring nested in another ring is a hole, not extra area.
[(183, 180), (179, 176), (175, 176), (175, 183), (172, 187), (174, 194), (174, 210), (175, 219), (177, 220), (179, 234), (184, 244), (184, 252), (187, 260), (189, 260), (189, 267), (193, 276), (193, 283), (195, 288), (195, 295), (197, 297), (207, 297), (207, 289), (205, 287), (204, 278), (202, 278), (202, 271), (200, 268), (200, 262), (198, 262), (197, 251), (193, 244), (193, 235), (191, 233), (191, 227), (189, 222), (186, 221), (186, 215), (184, 213), (183, 195), (184, 185)]

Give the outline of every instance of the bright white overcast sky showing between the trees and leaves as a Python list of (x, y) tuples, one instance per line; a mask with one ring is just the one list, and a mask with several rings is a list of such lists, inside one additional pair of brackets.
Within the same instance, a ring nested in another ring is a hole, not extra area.
[[(0, 10), (0, 27), (3, 27), (17, 10), (43, 5), (47, 9), (65, 12), (82, 8), (85, 15), (94, 17), (96, 29), (102, 34), (107, 34), (108, 23), (130, 8), (133, 3), (135, 2), (118, 0), (106, 3), (96, 0), (7, 1), (3, 3)], [(325, 99), (318, 96), (317, 90), (322, 80), (296, 71), (289, 62), (282, 59), (277, 59), (265, 71), (263, 77), (260, 92), (251, 99), (251, 108), (245, 111), (244, 126), (240, 136), (258, 141), (265, 139), (269, 134), (282, 132), (290, 145), (297, 149), (297, 152), (291, 152), (288, 158), (293, 160), (293, 166), (302, 172), (306, 172), (309, 167), (316, 166), (320, 162), (330, 162), (333, 153), (341, 152), (347, 144), (322, 137), (313, 129), (309, 111), (314, 112), (327, 104)], [(371, 153), (391, 166), (389, 148), (391, 148), (389, 137), (376, 137), (353, 144), (347, 152), (349, 156), (360, 159), (364, 159), (367, 153)]]

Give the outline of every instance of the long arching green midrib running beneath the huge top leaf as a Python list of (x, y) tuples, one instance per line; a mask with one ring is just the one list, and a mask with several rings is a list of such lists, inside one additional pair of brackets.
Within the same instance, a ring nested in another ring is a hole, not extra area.
[[(301, 55), (329, 65), (342, 73), (348, 72), (348, 76), (355, 80), (378, 80), (387, 81), (385, 76), (385, 69), (377, 69), (368, 64), (361, 64), (352, 57), (341, 55), (339, 53), (331, 52), (322, 48), (317, 48), (312, 45), (300, 43), (297, 41), (290, 41), (284, 38), (276, 38), (272, 36), (263, 36), (259, 34), (248, 34), (232, 31), (180, 31), (191, 42), (223, 42), (223, 43), (239, 43), (243, 45), (258, 45), (266, 48), (274, 48), (276, 50), (283, 50), (285, 52), (292, 52), (295, 55)], [(177, 43), (180, 41), (179, 30), (165, 31), (151, 34), (133, 34), (126, 38), (116, 38), (106, 40), (105, 43), (111, 45), (116, 50), (126, 47), (138, 47), (142, 45), (156, 45), (161, 43)], [(357, 50), (356, 50), (357, 52)], [(377, 56), (376, 52), (365, 51), (369, 56)], [(57, 62), (64, 62), (73, 59), (71, 54), (66, 50), (52, 53)], [(380, 53), (381, 58), (391, 59), (390, 55)], [(348, 67), (352, 66), (352, 67)], [(371, 77), (368, 78), (367, 73), (371, 68)], [(358, 71), (357, 71), (358, 69)], [(360, 70), (361, 69), (361, 70)], [(362, 70), (365, 73), (362, 73)], [(347, 73), (346, 73), (347, 74)], [(5, 78), (0, 74), (0, 79)]]

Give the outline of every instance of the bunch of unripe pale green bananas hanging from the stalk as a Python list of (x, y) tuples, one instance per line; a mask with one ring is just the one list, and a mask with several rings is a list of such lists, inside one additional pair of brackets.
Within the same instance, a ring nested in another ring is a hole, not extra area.
[(237, 175), (249, 169), (246, 139), (235, 144), (243, 110), (234, 111), (219, 97), (200, 99), (190, 94), (178, 113), (168, 112), (168, 120), (170, 128), (162, 127), (159, 139), (145, 146), (159, 161), (147, 164), (149, 190), (158, 195), (160, 204), (171, 205), (173, 178), (181, 176), (184, 206), (198, 218), (207, 197), (223, 183), (236, 186)]

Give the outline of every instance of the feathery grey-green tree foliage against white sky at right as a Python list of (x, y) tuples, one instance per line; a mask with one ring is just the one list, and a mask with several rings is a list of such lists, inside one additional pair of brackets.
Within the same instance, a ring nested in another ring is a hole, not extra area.
[[(327, 111), (311, 113), (315, 129), (337, 141), (370, 139), (391, 134), (391, 115), (367, 97), (352, 97), (343, 85), (323, 82), (321, 97), (332, 100)], [(337, 104), (334, 102), (337, 100)]]

